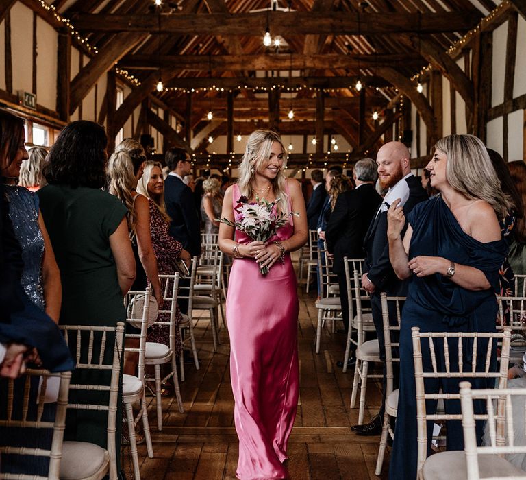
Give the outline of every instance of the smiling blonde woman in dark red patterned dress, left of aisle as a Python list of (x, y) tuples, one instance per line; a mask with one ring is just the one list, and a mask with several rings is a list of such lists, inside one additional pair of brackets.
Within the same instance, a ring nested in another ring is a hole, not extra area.
[[(159, 162), (146, 162), (144, 173), (137, 184), (137, 191), (149, 200), (150, 230), (153, 251), (157, 257), (157, 266), (160, 274), (173, 275), (175, 269), (174, 260), (183, 259), (187, 265), (190, 264), (190, 254), (183, 249), (183, 245), (175, 240), (169, 233), (170, 217), (164, 207), (164, 180), (162, 178), (162, 166)], [(164, 302), (162, 309), (169, 310), (170, 305)], [(182, 320), (179, 305), (175, 313), (177, 325)], [(170, 315), (162, 313), (158, 317), (159, 322), (169, 322)], [(147, 341), (170, 346), (170, 331), (168, 326), (153, 324), (148, 329)], [(181, 335), (179, 328), (175, 331), (175, 351), (177, 355), (181, 352)]]

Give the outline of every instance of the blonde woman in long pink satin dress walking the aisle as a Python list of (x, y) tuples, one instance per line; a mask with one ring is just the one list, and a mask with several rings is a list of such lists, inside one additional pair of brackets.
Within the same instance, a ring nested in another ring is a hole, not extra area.
[[(249, 202), (280, 199), (290, 215), (268, 242), (221, 224), (219, 246), (236, 259), (227, 296), (230, 374), (234, 421), (239, 437), (236, 475), (241, 480), (285, 479), (287, 442), (296, 417), (299, 369), (298, 297), (290, 253), (307, 241), (305, 202), (297, 180), (282, 171), (285, 149), (270, 130), (256, 130), (247, 141), (239, 180), (223, 200), (222, 217), (234, 221), (241, 195)], [(260, 274), (260, 266), (269, 268)]]

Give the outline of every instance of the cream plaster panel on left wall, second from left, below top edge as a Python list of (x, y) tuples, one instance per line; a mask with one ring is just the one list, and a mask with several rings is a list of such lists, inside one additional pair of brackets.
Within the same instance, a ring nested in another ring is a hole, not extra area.
[(40, 16), (36, 20), (36, 100), (42, 106), (57, 108), (58, 35)]

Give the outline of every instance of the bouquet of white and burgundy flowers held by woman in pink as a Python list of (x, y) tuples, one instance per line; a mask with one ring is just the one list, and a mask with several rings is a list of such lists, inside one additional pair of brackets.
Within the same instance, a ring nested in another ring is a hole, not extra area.
[[(258, 197), (255, 200), (256, 202), (251, 204), (247, 197), (240, 197), (234, 208), (234, 221), (226, 218), (217, 220), (244, 232), (253, 240), (266, 242), (276, 235), (278, 228), (287, 223), (289, 215), (298, 215), (293, 212), (288, 215), (282, 212), (277, 213), (275, 206), (279, 198), (273, 202), (265, 199), (259, 200)], [(260, 267), (260, 274), (268, 274), (268, 267)]]

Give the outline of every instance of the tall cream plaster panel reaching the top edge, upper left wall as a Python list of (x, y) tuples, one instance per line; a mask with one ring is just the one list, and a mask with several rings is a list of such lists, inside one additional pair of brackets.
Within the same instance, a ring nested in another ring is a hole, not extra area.
[[(21, 2), (11, 8), (13, 93), (33, 91), (33, 12)], [(5, 51), (5, 50), (4, 50)]]

